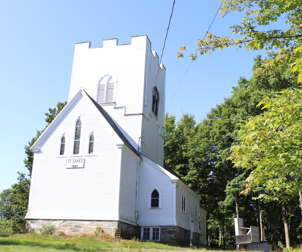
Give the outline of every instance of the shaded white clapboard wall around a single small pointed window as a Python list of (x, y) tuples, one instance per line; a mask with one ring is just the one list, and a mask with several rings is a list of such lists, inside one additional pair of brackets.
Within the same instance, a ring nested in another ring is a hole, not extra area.
[[(168, 226), (173, 222), (173, 183), (171, 179), (152, 164), (139, 163), (138, 179), (138, 222), (139, 226)], [(154, 188), (161, 194), (162, 209), (148, 209), (149, 193)]]

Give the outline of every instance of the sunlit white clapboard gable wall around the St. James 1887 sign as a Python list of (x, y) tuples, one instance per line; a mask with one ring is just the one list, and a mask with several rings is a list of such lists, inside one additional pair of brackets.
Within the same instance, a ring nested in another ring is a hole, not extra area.
[[(71, 156), (74, 122), (81, 115), (82, 156)], [(96, 156), (87, 156), (94, 130)], [(57, 157), (65, 132), (67, 157)], [(97, 136), (97, 137), (96, 137)], [(118, 148), (83, 96), (61, 118), (35, 153), (31, 182), (30, 219), (116, 219)], [(84, 169), (66, 169), (66, 159), (84, 158)]]

